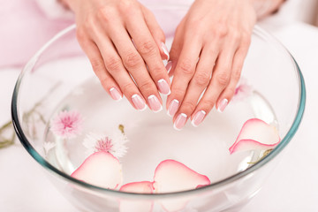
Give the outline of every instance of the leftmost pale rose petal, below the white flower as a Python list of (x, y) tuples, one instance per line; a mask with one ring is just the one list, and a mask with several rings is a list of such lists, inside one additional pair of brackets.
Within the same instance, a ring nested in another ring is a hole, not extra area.
[(122, 165), (110, 153), (96, 152), (87, 157), (71, 176), (94, 186), (116, 189), (122, 184)]

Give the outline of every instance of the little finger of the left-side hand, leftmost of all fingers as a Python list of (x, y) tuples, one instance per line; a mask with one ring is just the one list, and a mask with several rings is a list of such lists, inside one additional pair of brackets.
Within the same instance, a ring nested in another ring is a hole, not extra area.
[(102, 55), (95, 42), (88, 39), (81, 39), (79, 43), (82, 49), (87, 54), (87, 57), (92, 64), (95, 75), (102, 83), (102, 87), (115, 101), (121, 100), (123, 98), (121, 89), (117, 85), (117, 82), (110, 76), (110, 73), (106, 70), (106, 67), (102, 60)]

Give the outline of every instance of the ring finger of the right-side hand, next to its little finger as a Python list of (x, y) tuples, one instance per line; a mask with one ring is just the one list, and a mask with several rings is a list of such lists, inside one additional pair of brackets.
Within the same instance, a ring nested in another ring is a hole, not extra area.
[(215, 106), (216, 100), (223, 92), (223, 89), (229, 84), (234, 52), (235, 50), (229, 48), (221, 52), (218, 56), (208, 88), (193, 112), (192, 118), (195, 125), (201, 124), (203, 119)]

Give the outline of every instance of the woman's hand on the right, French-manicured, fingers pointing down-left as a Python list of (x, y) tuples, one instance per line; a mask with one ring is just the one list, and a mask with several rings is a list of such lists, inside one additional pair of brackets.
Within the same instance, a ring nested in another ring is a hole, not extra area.
[(200, 125), (215, 105), (223, 111), (231, 101), (255, 22), (250, 0), (193, 3), (177, 28), (168, 64), (174, 78), (167, 109), (176, 129), (189, 117)]

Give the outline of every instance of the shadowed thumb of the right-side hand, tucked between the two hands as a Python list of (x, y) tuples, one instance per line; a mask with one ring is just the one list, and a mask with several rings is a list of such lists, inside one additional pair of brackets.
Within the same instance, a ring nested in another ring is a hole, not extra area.
[(178, 64), (178, 57), (180, 56), (180, 52), (183, 46), (183, 39), (184, 39), (184, 24), (183, 21), (177, 27), (175, 37), (172, 42), (172, 46), (170, 49), (170, 61), (166, 65), (166, 69), (169, 73), (169, 76), (173, 76), (175, 71), (176, 65)]

